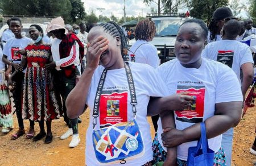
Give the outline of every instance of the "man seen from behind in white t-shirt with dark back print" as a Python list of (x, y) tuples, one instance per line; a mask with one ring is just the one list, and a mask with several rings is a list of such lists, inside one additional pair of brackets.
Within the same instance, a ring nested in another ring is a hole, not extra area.
[[(241, 24), (237, 20), (229, 20), (224, 24), (222, 40), (209, 43), (202, 52), (202, 56), (228, 65), (236, 73), (242, 88), (243, 100), (245, 93), (253, 81), (253, 56), (248, 45), (237, 42)], [(243, 81), (240, 80), (240, 68), (243, 73)], [(226, 153), (227, 165), (232, 159), (233, 128), (222, 135), (221, 146)]]

